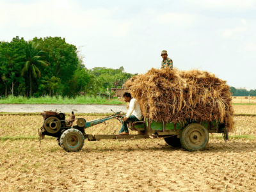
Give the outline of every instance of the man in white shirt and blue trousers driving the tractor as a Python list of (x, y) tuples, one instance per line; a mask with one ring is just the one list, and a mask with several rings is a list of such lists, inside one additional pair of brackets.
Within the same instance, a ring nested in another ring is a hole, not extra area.
[(118, 134), (129, 134), (127, 122), (138, 122), (142, 119), (142, 113), (138, 100), (131, 97), (131, 93), (124, 93), (125, 102), (130, 102), (129, 111), (122, 117), (122, 127)]

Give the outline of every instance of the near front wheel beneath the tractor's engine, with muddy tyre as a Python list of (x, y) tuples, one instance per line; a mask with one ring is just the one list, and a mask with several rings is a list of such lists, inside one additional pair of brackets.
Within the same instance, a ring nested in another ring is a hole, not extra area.
[(68, 129), (60, 136), (60, 145), (67, 152), (79, 151), (84, 145), (84, 136), (78, 129)]

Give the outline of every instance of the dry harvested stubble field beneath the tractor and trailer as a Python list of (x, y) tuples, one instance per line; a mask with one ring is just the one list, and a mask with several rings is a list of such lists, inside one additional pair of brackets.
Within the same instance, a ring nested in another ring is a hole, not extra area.
[[(85, 141), (80, 152), (67, 153), (50, 137), (39, 147), (42, 116), (0, 116), (0, 191), (256, 191), (256, 117), (234, 121), (230, 141), (211, 134), (201, 152), (144, 139)], [(86, 133), (118, 129), (109, 120)]]

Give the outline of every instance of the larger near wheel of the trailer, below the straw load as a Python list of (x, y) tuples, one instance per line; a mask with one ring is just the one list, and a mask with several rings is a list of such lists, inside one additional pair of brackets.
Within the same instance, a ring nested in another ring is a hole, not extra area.
[(209, 132), (203, 125), (189, 124), (181, 132), (180, 143), (189, 151), (202, 150), (209, 141)]

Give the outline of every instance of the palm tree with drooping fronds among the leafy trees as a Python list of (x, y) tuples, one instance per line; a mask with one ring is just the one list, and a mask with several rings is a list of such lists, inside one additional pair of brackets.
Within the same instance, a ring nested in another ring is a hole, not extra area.
[(29, 72), (29, 81), (30, 81), (30, 93), (29, 95), (31, 96), (32, 94), (32, 79), (31, 79), (31, 74), (33, 74), (33, 77), (35, 77), (35, 79), (37, 78), (37, 74), (38, 73), (38, 77), (41, 77), (41, 72), (38, 69), (38, 65), (41, 65), (42, 67), (47, 67), (48, 65), (50, 65), (49, 62), (45, 61), (43, 56), (40, 56), (41, 52), (44, 51), (40, 51), (38, 49), (38, 47), (40, 46), (40, 44), (36, 44), (35, 42), (32, 41), (32, 44), (28, 44), (28, 47), (26, 49), (26, 58), (28, 61), (25, 61), (25, 65), (24, 68), (22, 68), (21, 71), (21, 75), (24, 76), (25, 72)]

